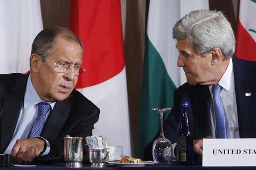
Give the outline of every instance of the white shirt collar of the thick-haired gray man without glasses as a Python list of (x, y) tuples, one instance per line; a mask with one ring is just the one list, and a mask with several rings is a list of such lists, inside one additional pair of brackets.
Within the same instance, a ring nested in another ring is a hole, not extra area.
[(230, 93), (234, 93), (234, 72), (233, 72), (233, 63), (231, 58), (229, 59), (229, 63), (226, 68), (226, 71), (220, 78), (218, 85), (220, 85)]

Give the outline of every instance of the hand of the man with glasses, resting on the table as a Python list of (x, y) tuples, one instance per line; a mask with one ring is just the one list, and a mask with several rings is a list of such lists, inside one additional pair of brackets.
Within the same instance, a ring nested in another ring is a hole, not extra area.
[(11, 156), (16, 157), (17, 162), (31, 162), (45, 147), (45, 142), (38, 138), (17, 140), (11, 150)]

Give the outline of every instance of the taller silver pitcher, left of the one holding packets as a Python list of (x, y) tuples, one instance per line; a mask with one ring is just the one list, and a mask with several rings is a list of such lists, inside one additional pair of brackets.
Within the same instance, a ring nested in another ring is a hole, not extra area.
[(64, 160), (67, 168), (82, 167), (82, 139), (81, 137), (64, 137)]

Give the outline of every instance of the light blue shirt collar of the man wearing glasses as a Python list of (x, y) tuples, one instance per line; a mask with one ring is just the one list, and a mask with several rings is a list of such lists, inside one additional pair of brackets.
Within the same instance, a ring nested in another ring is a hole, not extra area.
[[(25, 95), (24, 95), (24, 105), (23, 108), (26, 109), (30, 106), (36, 105), (40, 102), (45, 102), (43, 101), (40, 96), (37, 94), (35, 91), (32, 82), (31, 82), (31, 74), (29, 74), (27, 83), (26, 83), (26, 90), (25, 90)], [(50, 105), (51, 110), (53, 109), (54, 105), (56, 102), (46, 102)]]

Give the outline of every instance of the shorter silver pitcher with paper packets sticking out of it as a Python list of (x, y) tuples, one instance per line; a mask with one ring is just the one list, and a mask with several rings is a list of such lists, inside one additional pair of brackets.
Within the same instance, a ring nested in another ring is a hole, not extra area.
[(90, 167), (103, 168), (105, 167), (106, 157), (109, 154), (109, 149), (89, 149), (89, 162)]

